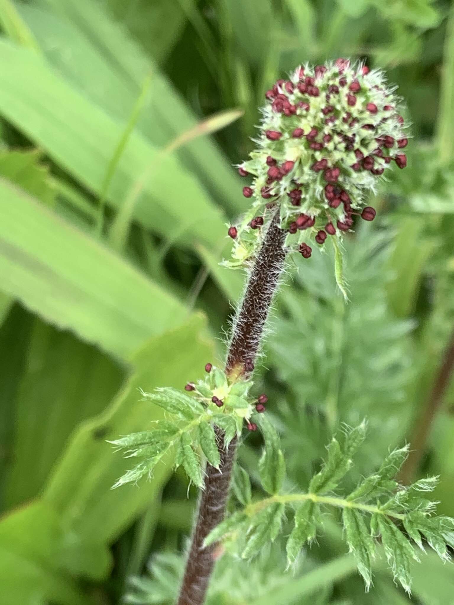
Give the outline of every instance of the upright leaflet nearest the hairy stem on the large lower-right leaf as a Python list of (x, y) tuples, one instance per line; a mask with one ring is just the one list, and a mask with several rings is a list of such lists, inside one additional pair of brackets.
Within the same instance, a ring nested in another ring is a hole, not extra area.
[(280, 449), (280, 439), (268, 418), (260, 416), (260, 428), (265, 438), (265, 450), (258, 462), (258, 472), (263, 489), (269, 494), (277, 494), (285, 479), (285, 459)]

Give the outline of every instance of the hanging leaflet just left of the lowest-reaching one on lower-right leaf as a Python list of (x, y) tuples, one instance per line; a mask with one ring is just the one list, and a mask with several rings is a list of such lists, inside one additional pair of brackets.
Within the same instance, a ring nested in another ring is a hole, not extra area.
[(372, 584), (372, 559), (375, 555), (375, 543), (370, 537), (369, 529), (360, 511), (351, 508), (343, 509), (343, 523), (347, 544), (354, 554), (358, 571), (364, 578), (366, 590)]

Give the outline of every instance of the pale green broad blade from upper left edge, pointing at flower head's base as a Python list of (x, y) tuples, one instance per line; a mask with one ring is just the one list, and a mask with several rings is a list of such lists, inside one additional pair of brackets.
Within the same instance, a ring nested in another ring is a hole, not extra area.
[[(72, 88), (31, 51), (1, 41), (0, 60), (5, 65), (0, 74), (0, 114), (74, 178), (101, 195), (123, 123)], [(117, 163), (107, 200), (120, 206), (148, 173), (134, 212), (137, 220), (164, 236), (170, 229), (181, 237), (190, 232), (191, 241), (211, 246), (225, 237), (222, 214), (194, 175), (136, 131)]]

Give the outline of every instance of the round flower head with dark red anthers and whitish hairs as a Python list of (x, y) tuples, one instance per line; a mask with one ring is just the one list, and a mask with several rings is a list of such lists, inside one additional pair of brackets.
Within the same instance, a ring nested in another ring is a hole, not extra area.
[(380, 70), (347, 59), (304, 65), (265, 97), (257, 148), (239, 165), (252, 206), (237, 226), (231, 266), (248, 259), (276, 206), (295, 249), (309, 258), (308, 240), (322, 246), (348, 231), (354, 214), (372, 220), (369, 206), (361, 214), (366, 195), (394, 164), (407, 165), (400, 99)]

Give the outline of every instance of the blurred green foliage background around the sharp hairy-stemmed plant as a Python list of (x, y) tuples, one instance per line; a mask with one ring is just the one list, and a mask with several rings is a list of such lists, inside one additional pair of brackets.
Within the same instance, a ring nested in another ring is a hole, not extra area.
[[(0, 26), (0, 604), (172, 602), (196, 493), (169, 465), (111, 491), (128, 461), (106, 440), (159, 417), (139, 387), (222, 363), (242, 284), (218, 265), (245, 208), (232, 164), (269, 85), (306, 61), (386, 69), (409, 168), (346, 238), (349, 304), (330, 253), (292, 261), (257, 389), (295, 488), (366, 416), (357, 475), (411, 440), (401, 479), (439, 474), (454, 516), (451, 2), (0, 0)], [(259, 454), (249, 436), (253, 481)], [(364, 593), (334, 522), (295, 574), (278, 545), (223, 558), (209, 603), (409, 603), (380, 560)], [(452, 564), (414, 574), (413, 603), (454, 603)]]

